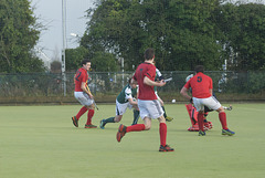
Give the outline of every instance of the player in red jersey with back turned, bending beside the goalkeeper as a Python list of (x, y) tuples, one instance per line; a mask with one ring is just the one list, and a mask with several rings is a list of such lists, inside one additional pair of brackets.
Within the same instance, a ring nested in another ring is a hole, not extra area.
[[(193, 102), (198, 113), (199, 136), (205, 136), (203, 128), (204, 106), (214, 109), (219, 113), (219, 119), (222, 124), (222, 135), (232, 136), (235, 133), (230, 130), (226, 124), (226, 114), (223, 106), (216, 98), (212, 96), (212, 78), (203, 74), (204, 70), (202, 65), (195, 67), (195, 75), (190, 78), (186, 85), (181, 88), (180, 94), (189, 101)], [(191, 87), (192, 97), (189, 96), (188, 91)]]

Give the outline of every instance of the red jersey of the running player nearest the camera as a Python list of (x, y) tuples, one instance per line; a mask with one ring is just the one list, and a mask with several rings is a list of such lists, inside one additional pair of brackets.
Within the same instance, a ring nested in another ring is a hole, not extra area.
[(147, 76), (149, 80), (155, 81), (156, 77), (156, 66), (151, 63), (144, 62), (136, 69), (134, 80), (138, 82), (139, 85), (139, 100), (144, 101), (155, 101), (157, 95), (155, 94), (153, 86), (144, 84), (144, 77)]

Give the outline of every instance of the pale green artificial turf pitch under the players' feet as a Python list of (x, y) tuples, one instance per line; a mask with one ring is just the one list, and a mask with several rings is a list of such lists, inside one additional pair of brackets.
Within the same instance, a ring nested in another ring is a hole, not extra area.
[[(115, 105), (98, 105), (93, 124), (115, 115)], [(0, 106), (1, 178), (263, 178), (265, 175), (265, 104), (234, 104), (226, 112), (234, 136), (222, 136), (218, 113), (205, 137), (188, 132), (183, 104), (166, 105), (172, 153), (159, 153), (159, 124), (127, 133), (117, 143), (119, 124), (85, 129), (86, 114), (75, 128), (80, 105)], [(120, 123), (130, 125), (127, 109)], [(142, 123), (142, 121), (139, 121)]]

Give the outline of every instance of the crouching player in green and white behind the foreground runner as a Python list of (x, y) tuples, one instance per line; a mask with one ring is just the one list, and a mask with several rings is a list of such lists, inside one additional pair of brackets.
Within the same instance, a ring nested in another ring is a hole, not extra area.
[(137, 84), (131, 82), (129, 78), (128, 84), (123, 88), (119, 95), (116, 98), (116, 116), (109, 117), (107, 119), (102, 119), (99, 127), (105, 128), (107, 123), (119, 123), (125, 114), (126, 109), (131, 109), (134, 107), (134, 124), (137, 124), (139, 118), (139, 108), (137, 106)]

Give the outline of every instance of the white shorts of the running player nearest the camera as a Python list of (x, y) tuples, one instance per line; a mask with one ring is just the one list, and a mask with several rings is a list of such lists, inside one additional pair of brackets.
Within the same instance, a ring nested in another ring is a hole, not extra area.
[(138, 100), (138, 107), (140, 111), (141, 119), (144, 119), (145, 117), (157, 119), (163, 115), (163, 109), (158, 100), (156, 101)]

